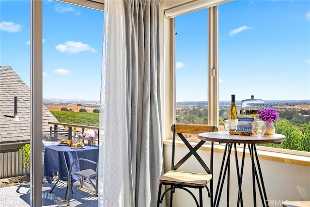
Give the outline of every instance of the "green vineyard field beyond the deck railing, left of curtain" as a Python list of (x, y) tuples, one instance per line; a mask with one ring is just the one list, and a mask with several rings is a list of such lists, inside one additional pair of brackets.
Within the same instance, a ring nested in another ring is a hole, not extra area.
[(99, 113), (50, 111), (60, 123), (99, 127)]

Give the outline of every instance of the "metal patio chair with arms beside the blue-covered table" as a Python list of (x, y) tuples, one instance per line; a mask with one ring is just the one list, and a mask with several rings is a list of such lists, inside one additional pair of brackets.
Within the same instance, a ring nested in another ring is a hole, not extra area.
[[(74, 172), (72, 173), (72, 167), (74, 166), (74, 164), (77, 162), (77, 161), (85, 161), (85, 162), (90, 162), (90, 163), (93, 163), (94, 165), (96, 165), (96, 171), (94, 171), (93, 169), (86, 169), (86, 170), (81, 170), (81, 171), (78, 171), (78, 172)], [(71, 190), (71, 177), (72, 175), (80, 175), (82, 176), (80, 178), (80, 185), (81, 187), (83, 187), (83, 180), (84, 178), (87, 178), (90, 183), (93, 185), (94, 189), (95, 189), (95, 195), (98, 196), (98, 162), (95, 162), (93, 160), (90, 160), (90, 159), (84, 159), (84, 158), (78, 158), (76, 160), (74, 160), (70, 166), (70, 169), (69, 169), (69, 179), (68, 179), (68, 186), (67, 186), (67, 191), (66, 191), (66, 194), (67, 194), (67, 206), (70, 205), (70, 190)], [(96, 185), (93, 184), (93, 181), (92, 179), (95, 179), (96, 180)]]

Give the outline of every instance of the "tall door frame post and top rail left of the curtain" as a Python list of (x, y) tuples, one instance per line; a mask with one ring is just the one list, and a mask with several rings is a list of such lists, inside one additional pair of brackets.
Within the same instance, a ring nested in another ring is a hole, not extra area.
[[(90, 9), (104, 11), (104, 4), (87, 0), (58, 0)], [(42, 0), (31, 0), (31, 166), (30, 166), (30, 206), (42, 205)], [(39, 160), (39, 161), (38, 161)], [(40, 178), (40, 179), (38, 179)]]

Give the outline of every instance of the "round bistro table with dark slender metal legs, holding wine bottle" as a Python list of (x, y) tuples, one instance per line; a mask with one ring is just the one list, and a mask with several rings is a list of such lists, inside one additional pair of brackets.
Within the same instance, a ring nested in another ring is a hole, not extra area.
[[(261, 171), (261, 166), (259, 163), (255, 144), (257, 143), (281, 143), (285, 140), (284, 135), (274, 134), (272, 136), (246, 136), (246, 135), (231, 135), (227, 132), (205, 132), (205, 133), (198, 134), (198, 138), (201, 140), (205, 140), (205, 141), (209, 141), (213, 143), (216, 143), (216, 142), (226, 143), (224, 154), (223, 154), (223, 159), (221, 163), (221, 168), (219, 172), (218, 182), (217, 182), (216, 194), (214, 197), (214, 203), (213, 203), (214, 207), (218, 207), (219, 205), (219, 200), (221, 197), (221, 192), (222, 192), (223, 184), (224, 184), (225, 177), (226, 177), (226, 172), (227, 172), (227, 185), (228, 185), (227, 186), (227, 206), (229, 206), (229, 190), (230, 190), (230, 187), (229, 187), (230, 170), (229, 169), (230, 169), (230, 155), (232, 152), (232, 146), (234, 146), (234, 149), (235, 149), (234, 157), (235, 157), (235, 162), (236, 162), (236, 171), (237, 171), (238, 189), (239, 189), (237, 205), (233, 205), (233, 206), (241, 205), (243, 207), (241, 184), (242, 184), (244, 159), (245, 159), (245, 152), (246, 152), (247, 145), (248, 145), (248, 150), (250, 153), (251, 165), (252, 165), (253, 207), (256, 207), (256, 187), (255, 187), (256, 184), (260, 192), (263, 206), (269, 206), (266, 191), (265, 191), (265, 186), (263, 183), (263, 174)], [(240, 172), (239, 172), (236, 143), (244, 144)], [(226, 157), (226, 153), (227, 153), (227, 157)], [(211, 154), (213, 155), (213, 148), (212, 148)], [(211, 168), (211, 172), (212, 171), (213, 171), (213, 167)], [(212, 174), (214, 174), (214, 172), (212, 172)]]

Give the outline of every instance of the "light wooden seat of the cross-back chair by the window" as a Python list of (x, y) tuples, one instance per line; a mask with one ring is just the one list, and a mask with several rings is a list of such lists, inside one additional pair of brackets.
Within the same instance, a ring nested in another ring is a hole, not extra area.
[(162, 184), (177, 184), (190, 187), (204, 187), (212, 179), (212, 175), (171, 170), (158, 178)]

